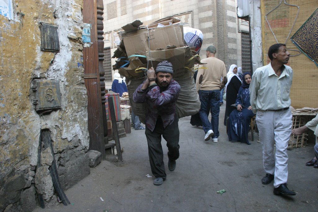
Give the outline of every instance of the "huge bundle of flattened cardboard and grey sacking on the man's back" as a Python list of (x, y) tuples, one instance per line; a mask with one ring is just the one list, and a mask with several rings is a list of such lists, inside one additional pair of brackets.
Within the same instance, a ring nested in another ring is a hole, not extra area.
[(128, 79), (128, 94), (132, 109), (144, 123), (145, 105), (132, 100), (135, 89), (143, 82), (147, 68), (168, 60), (173, 66), (173, 79), (181, 86), (177, 100), (179, 118), (195, 114), (200, 109), (199, 96), (193, 80), (195, 61), (200, 63), (195, 48), (185, 45), (183, 25), (173, 17), (160, 19), (148, 26), (138, 20), (122, 27), (121, 44), (114, 52), (118, 58), (113, 69)]

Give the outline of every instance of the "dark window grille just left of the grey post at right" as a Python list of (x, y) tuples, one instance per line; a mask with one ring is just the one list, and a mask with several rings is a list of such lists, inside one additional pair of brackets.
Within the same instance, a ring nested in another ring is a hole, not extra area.
[(250, 33), (241, 32), (242, 41), (242, 71), (252, 71), (251, 69), (251, 53), (250, 53)]

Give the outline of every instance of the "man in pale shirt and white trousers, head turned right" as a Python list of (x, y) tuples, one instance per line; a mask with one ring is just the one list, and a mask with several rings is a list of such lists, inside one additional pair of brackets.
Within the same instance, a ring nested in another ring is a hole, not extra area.
[(273, 193), (282, 195), (296, 195), (287, 188), (287, 146), (292, 130), (289, 94), (293, 79), (293, 70), (285, 65), (289, 55), (285, 44), (269, 47), (271, 63), (256, 69), (250, 85), (250, 103), (256, 114), (266, 172), (262, 184), (274, 180)]

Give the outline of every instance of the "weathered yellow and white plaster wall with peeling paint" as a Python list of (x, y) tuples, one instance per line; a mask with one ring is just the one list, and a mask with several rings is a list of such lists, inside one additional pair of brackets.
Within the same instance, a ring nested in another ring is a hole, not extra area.
[[(82, 6), (83, 0), (13, 0), (14, 20), (0, 15), (0, 211), (34, 206), (41, 129), (51, 133), (57, 165), (88, 150)], [(59, 52), (40, 50), (39, 22), (58, 26)], [(59, 80), (61, 109), (36, 113), (32, 79)]]

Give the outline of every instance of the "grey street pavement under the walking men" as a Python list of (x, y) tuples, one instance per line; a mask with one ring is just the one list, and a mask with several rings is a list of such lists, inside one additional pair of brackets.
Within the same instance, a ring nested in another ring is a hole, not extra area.
[[(168, 170), (167, 147), (162, 140), (167, 180), (153, 185), (144, 130), (133, 130), (121, 138), (122, 164), (102, 161), (91, 174), (65, 191), (71, 205), (48, 205), (34, 211), (318, 211), (318, 169), (306, 167), (314, 156), (313, 146), (288, 150), (288, 188), (296, 196), (273, 194), (273, 182), (261, 184), (265, 176), (262, 149), (254, 133), (252, 145), (230, 142), (223, 125), (221, 106), (218, 143), (204, 141), (202, 127), (190, 125), (190, 117), (179, 120), (180, 158)], [(225, 189), (225, 193), (217, 191)]]

